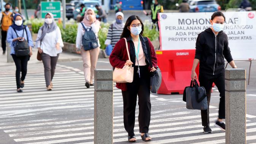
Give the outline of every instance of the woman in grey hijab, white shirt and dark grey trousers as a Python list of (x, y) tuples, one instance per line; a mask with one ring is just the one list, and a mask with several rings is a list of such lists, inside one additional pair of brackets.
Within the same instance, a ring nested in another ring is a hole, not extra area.
[(54, 21), (52, 13), (47, 13), (45, 16), (45, 23), (38, 31), (36, 46), (41, 54), (45, 68), (47, 90), (52, 90), (52, 78), (55, 73), (57, 60), (62, 52), (61, 47), (64, 47), (60, 28)]

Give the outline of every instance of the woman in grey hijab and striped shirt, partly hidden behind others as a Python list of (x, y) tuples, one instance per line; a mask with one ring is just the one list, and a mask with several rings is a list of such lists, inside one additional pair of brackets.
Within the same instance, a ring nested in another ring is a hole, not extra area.
[(106, 45), (111, 44), (112, 47), (120, 40), (122, 31), (124, 30), (124, 14), (122, 12), (116, 13), (116, 21), (108, 28)]

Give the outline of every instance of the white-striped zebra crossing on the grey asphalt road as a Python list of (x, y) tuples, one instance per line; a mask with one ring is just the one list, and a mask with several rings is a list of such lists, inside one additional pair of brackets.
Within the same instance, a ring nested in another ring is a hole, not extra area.
[[(94, 89), (83, 72), (57, 65), (53, 90), (46, 91), (43, 65), (29, 65), (23, 93), (16, 92), (15, 68), (0, 71), (0, 144), (93, 144)], [(177, 105), (178, 103), (178, 105)], [(152, 144), (219, 144), (225, 133), (213, 127), (218, 109), (210, 107), (212, 134), (202, 133), (200, 111), (188, 110), (182, 98), (151, 95)], [(121, 90), (114, 87), (114, 143), (125, 144)], [(136, 143), (143, 143), (136, 111)], [(247, 116), (247, 143), (256, 142), (256, 117)], [(1, 133), (3, 132), (3, 133)]]

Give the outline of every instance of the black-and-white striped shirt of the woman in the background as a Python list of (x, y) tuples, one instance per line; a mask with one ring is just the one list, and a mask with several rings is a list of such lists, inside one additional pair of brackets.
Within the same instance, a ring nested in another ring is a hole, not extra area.
[(110, 27), (108, 28), (108, 35), (107, 35), (107, 40), (105, 41), (105, 44), (106, 45), (111, 44), (112, 47), (114, 47), (114, 45), (120, 40), (122, 31), (123, 30), (118, 30), (113, 26), (111, 28), (111, 25), (110, 25)]

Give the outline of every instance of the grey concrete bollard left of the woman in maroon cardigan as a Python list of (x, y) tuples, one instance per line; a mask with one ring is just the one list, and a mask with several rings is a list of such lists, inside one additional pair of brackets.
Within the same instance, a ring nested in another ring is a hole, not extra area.
[(94, 70), (94, 144), (113, 143), (113, 70)]

